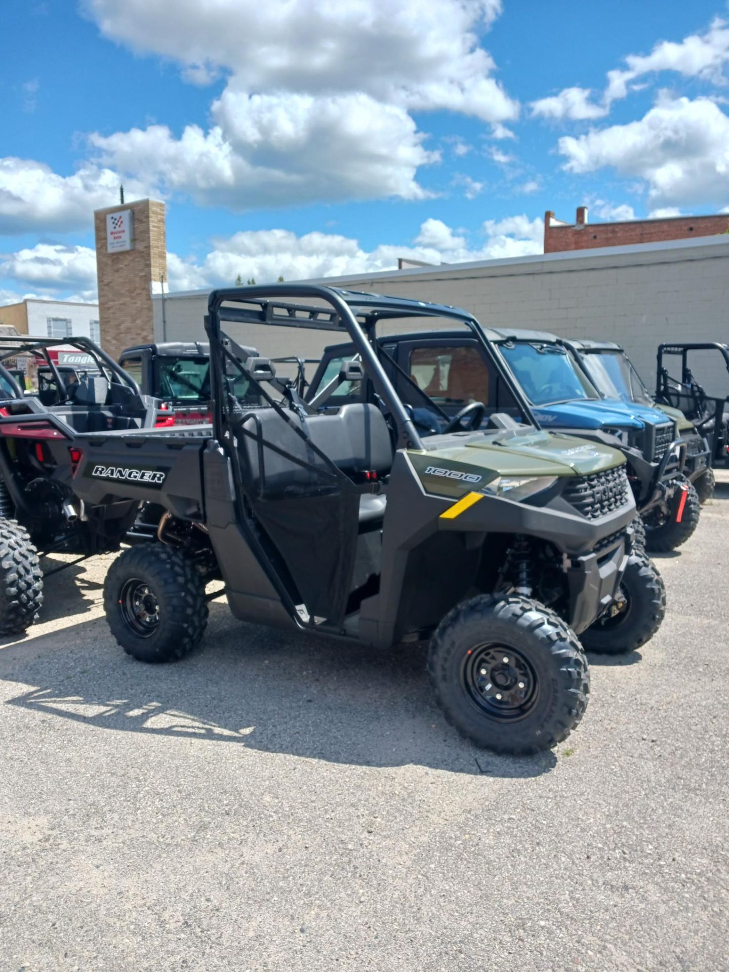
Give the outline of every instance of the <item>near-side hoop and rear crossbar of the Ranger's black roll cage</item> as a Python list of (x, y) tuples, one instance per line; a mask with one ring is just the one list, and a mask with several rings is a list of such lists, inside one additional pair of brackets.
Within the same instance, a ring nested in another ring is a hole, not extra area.
[[(210, 340), (210, 360), (211, 360), (211, 391), (213, 397), (213, 428), (218, 439), (223, 436), (223, 375), (220, 373), (220, 359), (213, 355), (213, 345), (220, 345), (221, 341), (221, 321), (230, 321), (247, 324), (271, 324), (282, 327), (313, 328), (316, 330), (340, 330), (344, 328), (349, 333), (352, 343), (355, 345), (364, 369), (374, 385), (375, 391), (385, 402), (395, 423), (398, 427), (399, 447), (407, 449), (425, 450), (425, 446), (420, 436), (415, 430), (412, 419), (407, 414), (404, 405), (398, 397), (392, 382), (388, 378), (385, 369), (380, 363), (372, 345), (366, 338), (364, 330), (359, 321), (352, 313), (352, 309), (341, 295), (329, 287), (321, 287), (316, 284), (276, 284), (275, 297), (272, 296), (271, 288), (263, 285), (257, 287), (246, 287), (242, 293), (241, 289), (225, 288), (213, 291), (208, 298), (208, 313), (205, 317), (205, 330)], [(281, 303), (277, 297), (290, 297), (293, 299), (310, 299), (312, 297), (324, 300), (330, 304), (333, 313), (329, 313), (324, 308), (310, 307), (307, 305), (287, 305)], [(260, 311), (252, 308), (221, 308), (227, 301), (231, 303), (260, 304)], [(276, 310), (286, 311), (286, 317), (276, 315)], [(309, 312), (308, 318), (297, 317), (298, 313)], [(329, 320), (321, 318), (322, 313), (329, 313)]]

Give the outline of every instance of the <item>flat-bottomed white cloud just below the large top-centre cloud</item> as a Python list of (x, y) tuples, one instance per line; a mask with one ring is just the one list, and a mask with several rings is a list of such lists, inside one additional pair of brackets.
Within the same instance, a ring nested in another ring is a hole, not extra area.
[[(201, 205), (249, 209), (312, 201), (428, 195), (419, 166), (439, 159), (401, 108), (365, 94), (252, 95), (224, 92), (220, 122), (188, 125), (180, 138), (164, 125), (94, 134), (99, 164), (134, 172), (162, 193)], [(366, 135), (365, 135), (366, 133)]]

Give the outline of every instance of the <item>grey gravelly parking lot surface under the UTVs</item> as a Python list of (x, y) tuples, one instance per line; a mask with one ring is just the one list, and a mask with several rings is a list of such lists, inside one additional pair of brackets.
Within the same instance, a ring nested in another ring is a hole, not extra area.
[(553, 752), (461, 741), (420, 652), (232, 619), (149, 667), (109, 558), (0, 646), (0, 968), (729, 968), (729, 475)]

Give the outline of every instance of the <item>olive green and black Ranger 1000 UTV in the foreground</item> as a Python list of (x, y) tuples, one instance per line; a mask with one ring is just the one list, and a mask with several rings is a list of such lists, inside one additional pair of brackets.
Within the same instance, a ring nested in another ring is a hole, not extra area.
[[(515, 415), (478, 402), (474, 428), (463, 427), (471, 408), (465, 422), (418, 433), (374, 342), (380, 326), (424, 318), (482, 340), (451, 307), (312, 285), (215, 291), (205, 322), (212, 428), (77, 435), (66, 479), (89, 510), (164, 509), (156, 541), (123, 552), (105, 585), (112, 633), (135, 658), (194, 648), (216, 596), (205, 585), (222, 579), (241, 620), (343, 648), (430, 642), (446, 718), (478, 746), (535, 752), (565, 739), (585, 710), (577, 635), (608, 651), (647, 641), (663, 584), (632, 553), (635, 502), (619, 452), (540, 431), (516, 391)], [(270, 328), (348, 338), (358, 360), (342, 364), (339, 385), (363, 387), (365, 400), (303, 401), (224, 324), (262, 349)], [(236, 394), (241, 378), (258, 404)], [(68, 453), (53, 448), (59, 461)]]

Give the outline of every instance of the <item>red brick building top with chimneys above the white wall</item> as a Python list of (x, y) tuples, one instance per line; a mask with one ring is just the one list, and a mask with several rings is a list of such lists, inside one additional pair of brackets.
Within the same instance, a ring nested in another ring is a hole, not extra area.
[(718, 216), (672, 216), (662, 220), (628, 220), (624, 223), (587, 222), (587, 206), (578, 206), (574, 223), (563, 223), (554, 213), (544, 213), (544, 253), (565, 250), (594, 250), (605, 246), (662, 243), (716, 236), (729, 230), (729, 213)]

